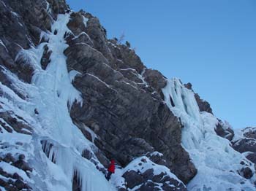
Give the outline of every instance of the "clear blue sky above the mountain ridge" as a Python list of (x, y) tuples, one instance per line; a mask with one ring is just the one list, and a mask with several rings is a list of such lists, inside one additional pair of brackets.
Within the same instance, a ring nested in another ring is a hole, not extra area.
[(191, 82), (233, 128), (256, 126), (255, 0), (67, 0), (152, 69)]

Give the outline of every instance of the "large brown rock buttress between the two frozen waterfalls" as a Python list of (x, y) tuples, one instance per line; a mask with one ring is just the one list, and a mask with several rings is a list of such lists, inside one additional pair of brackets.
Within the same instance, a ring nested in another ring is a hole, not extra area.
[(89, 17), (84, 24), (78, 19), (83, 15), (72, 14), (69, 29), (79, 35), (74, 26), (81, 26), (79, 32), (88, 34), (85, 42), (93, 43), (76, 43), (67, 36), (64, 52), (68, 70), (79, 73), (73, 85), (84, 100), (82, 107), (72, 106), (72, 119), (94, 130), (97, 147), (122, 166), (159, 151), (168, 168), (187, 183), (196, 170), (180, 145), (181, 124), (162, 102), (165, 77), (146, 69), (129, 47), (108, 41), (97, 18)]

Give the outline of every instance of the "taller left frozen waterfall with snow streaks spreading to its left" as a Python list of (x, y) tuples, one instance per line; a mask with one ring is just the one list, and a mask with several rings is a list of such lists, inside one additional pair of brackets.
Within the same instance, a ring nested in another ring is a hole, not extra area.
[[(72, 86), (72, 80), (78, 72), (67, 71), (66, 56), (63, 53), (68, 47), (64, 40), (64, 34), (70, 33), (68, 21), (68, 14), (58, 15), (51, 30), (58, 33), (54, 35), (49, 32), (49, 42), (18, 53), (16, 61), (21, 59), (35, 69), (31, 84), (20, 82), (15, 75), (9, 74), (13, 85), (28, 95), (26, 100), (0, 83), (0, 89), (4, 92), (0, 97), (2, 111), (15, 111), (15, 115), (22, 116), (33, 127), (31, 136), (15, 131), (8, 133), (3, 128), (0, 133), (1, 144), (8, 148), (1, 149), (1, 155), (7, 152), (15, 156), (25, 153), (26, 160), (34, 170), (29, 178), (22, 174), (23, 171), (12, 168), (8, 163), (2, 162), (0, 166), (11, 173), (17, 171), (34, 190), (72, 190), (75, 173), (78, 174), (82, 191), (116, 190), (94, 163), (82, 157), (85, 149), (93, 153), (95, 146), (83, 136), (69, 115), (72, 104), (75, 101), (83, 104), (83, 99), (80, 92)], [(48, 45), (52, 53), (47, 69), (43, 70), (40, 60), (45, 45)], [(34, 114), (34, 109), (39, 114)], [(92, 132), (91, 135), (93, 139), (97, 137)], [(22, 142), (20, 147), (16, 144), (17, 141)], [(96, 156), (94, 160), (97, 160)]]

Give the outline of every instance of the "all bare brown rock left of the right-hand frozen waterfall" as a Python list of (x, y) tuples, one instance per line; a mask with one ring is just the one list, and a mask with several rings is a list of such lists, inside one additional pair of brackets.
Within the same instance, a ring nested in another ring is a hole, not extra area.
[[(178, 179), (186, 184), (197, 170), (188, 153), (181, 147), (181, 122), (163, 101), (161, 90), (166, 85), (165, 77), (159, 71), (146, 69), (135, 51), (127, 45), (108, 39), (97, 17), (83, 11), (70, 11), (64, 0), (1, 0), (1, 83), (9, 87), (19, 99), (26, 101), (31, 97), (26, 88), (20, 87), (31, 83), (38, 70), (48, 70), (53, 52), (52, 47), (45, 42), (49, 41), (50, 33), (58, 35), (58, 30), (51, 31), (52, 24), (59, 14), (65, 13), (70, 15), (67, 23), (70, 31), (64, 35), (68, 44), (64, 50), (67, 70), (70, 74), (75, 72), (72, 84), (83, 98), (82, 106), (79, 103), (72, 105), (70, 115), (83, 135), (97, 146), (94, 152), (85, 149), (82, 157), (105, 173), (110, 158), (115, 158), (116, 163), (124, 168), (136, 157), (161, 152), (161, 157), (154, 156), (151, 160), (165, 165), (178, 178), (172, 179), (166, 174), (154, 176), (148, 171), (140, 179), (141, 189), (151, 190), (157, 184), (163, 184), (163, 190), (176, 190), (176, 187), (186, 190)], [(38, 59), (33, 51), (41, 45), (43, 51)], [(37, 65), (37, 62), (40, 64)], [(14, 81), (15, 75), (20, 80), (18, 84)], [(13, 99), (2, 89), (0, 95)], [(29, 115), (40, 115), (36, 107), (32, 111)], [(11, 109), (0, 112), (0, 116), (3, 119), (0, 121), (1, 132), (34, 136), (33, 124), (17, 116)], [(56, 149), (56, 144), (46, 139), (39, 143), (45, 156), (56, 164), (56, 153), (51, 152)], [(23, 145), (23, 142), (19, 144)], [(97, 160), (94, 160), (95, 157)], [(30, 167), (23, 160), (16, 160), (12, 161), (12, 165), (29, 176), (33, 166)], [(2, 172), (1, 175), (7, 179), (1, 179), (0, 186), (8, 190), (8, 179), (14, 179), (14, 175), (4, 174), (4, 170)], [(74, 190), (80, 189), (78, 176), (76, 171)], [(128, 181), (129, 176), (124, 176)], [(128, 182), (130, 184), (131, 181)], [(29, 189), (20, 178), (12, 187)]]

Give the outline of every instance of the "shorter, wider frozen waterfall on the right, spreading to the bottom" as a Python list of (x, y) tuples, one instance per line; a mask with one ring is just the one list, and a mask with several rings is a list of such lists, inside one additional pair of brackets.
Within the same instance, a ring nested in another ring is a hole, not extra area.
[(181, 143), (197, 168), (197, 175), (187, 185), (188, 190), (255, 190), (252, 186), (255, 175), (250, 182), (236, 173), (243, 168), (242, 160), (252, 171), (254, 167), (230, 147), (230, 141), (217, 136), (214, 131), (217, 118), (200, 112), (194, 93), (179, 79), (168, 80), (162, 92), (165, 103), (184, 125)]

